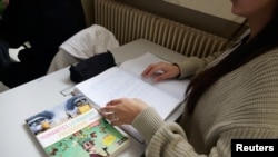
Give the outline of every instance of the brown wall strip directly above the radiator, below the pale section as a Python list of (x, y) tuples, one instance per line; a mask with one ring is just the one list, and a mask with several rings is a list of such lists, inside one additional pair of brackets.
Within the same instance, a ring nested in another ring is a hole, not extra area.
[[(163, 0), (116, 0), (136, 8), (162, 16), (165, 18), (218, 35), (220, 37), (229, 38), (238, 28), (239, 23), (232, 20), (217, 17), (201, 9), (193, 9), (189, 7), (180, 7)], [(191, 0), (196, 1), (196, 0)], [(211, 1), (211, 0), (199, 0)], [(227, 1), (227, 0), (220, 0)]]

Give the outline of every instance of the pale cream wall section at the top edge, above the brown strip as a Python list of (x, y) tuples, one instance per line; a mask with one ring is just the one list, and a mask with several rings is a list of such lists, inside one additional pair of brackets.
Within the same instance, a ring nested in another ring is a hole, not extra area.
[(219, 18), (241, 22), (242, 18), (230, 12), (230, 0), (165, 0), (170, 3), (179, 4), (190, 9), (195, 9)]

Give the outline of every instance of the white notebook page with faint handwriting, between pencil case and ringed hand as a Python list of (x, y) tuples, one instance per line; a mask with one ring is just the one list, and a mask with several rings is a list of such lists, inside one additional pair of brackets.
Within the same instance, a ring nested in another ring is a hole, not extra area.
[(78, 84), (76, 88), (99, 107), (105, 107), (108, 101), (122, 97), (141, 99), (153, 106), (163, 119), (180, 104), (178, 98), (118, 67)]

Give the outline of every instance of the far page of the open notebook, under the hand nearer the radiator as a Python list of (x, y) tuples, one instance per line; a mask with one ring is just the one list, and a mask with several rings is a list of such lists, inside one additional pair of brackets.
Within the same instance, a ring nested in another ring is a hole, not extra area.
[(189, 80), (167, 79), (167, 80), (153, 82), (152, 78), (146, 79), (146, 78), (141, 77), (142, 71), (150, 63), (156, 63), (159, 61), (167, 62), (166, 60), (163, 60), (163, 59), (161, 59), (161, 58), (159, 58), (150, 52), (146, 52), (145, 55), (142, 55), (138, 58), (130, 59), (130, 60), (122, 62), (119, 67), (121, 69), (125, 69), (126, 71), (128, 71), (130, 73), (133, 73), (138, 78), (141, 78), (143, 81), (168, 92), (169, 95), (172, 95), (172, 96), (177, 97), (178, 99), (183, 100), (186, 88), (189, 84)]

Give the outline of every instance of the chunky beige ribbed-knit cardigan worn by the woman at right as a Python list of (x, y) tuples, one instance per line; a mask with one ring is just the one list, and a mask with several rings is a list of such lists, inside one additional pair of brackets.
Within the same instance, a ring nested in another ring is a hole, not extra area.
[[(196, 73), (209, 62), (217, 63), (229, 52), (188, 58), (178, 63), (181, 77)], [(179, 125), (165, 122), (149, 107), (132, 126), (146, 138), (147, 157), (229, 157), (231, 139), (277, 139), (278, 48), (221, 77), (201, 96), (195, 112), (185, 115)]]

